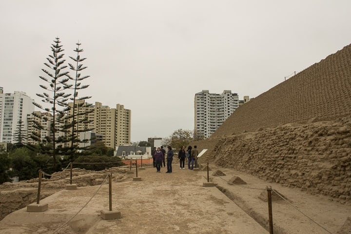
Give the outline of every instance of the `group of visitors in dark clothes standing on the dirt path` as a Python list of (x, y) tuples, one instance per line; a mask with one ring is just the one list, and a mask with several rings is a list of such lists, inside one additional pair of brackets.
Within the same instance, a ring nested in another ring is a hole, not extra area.
[[(173, 161), (173, 150), (171, 146), (167, 146), (168, 151), (166, 152), (161, 147), (154, 147), (153, 151), (151, 152), (153, 156), (153, 165), (156, 167), (156, 172), (161, 172), (162, 163), (165, 166), (165, 155), (167, 154), (167, 172), (172, 173), (172, 161)], [(197, 161), (198, 151), (196, 145), (193, 147), (189, 146), (188, 149), (185, 151), (185, 146), (183, 146), (178, 152), (178, 158), (180, 167), (179, 169), (185, 169), (185, 158), (188, 159), (188, 169), (194, 169), (194, 163)], [(191, 166), (190, 166), (191, 165)]]

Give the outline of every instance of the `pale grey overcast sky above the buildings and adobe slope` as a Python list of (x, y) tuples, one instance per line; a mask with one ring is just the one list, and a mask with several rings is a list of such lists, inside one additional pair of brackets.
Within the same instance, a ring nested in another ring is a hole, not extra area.
[(1, 0), (0, 86), (39, 102), (52, 41), (70, 60), (79, 40), (89, 102), (131, 109), (132, 141), (168, 137), (194, 129), (195, 93), (257, 97), (350, 44), (350, 10), (350, 0)]

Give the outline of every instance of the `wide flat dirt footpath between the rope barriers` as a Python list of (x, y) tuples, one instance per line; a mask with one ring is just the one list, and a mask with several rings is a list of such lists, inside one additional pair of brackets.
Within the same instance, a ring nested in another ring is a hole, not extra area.
[(179, 169), (176, 164), (173, 168), (172, 174), (166, 174), (164, 167), (161, 173), (148, 167), (138, 171), (141, 181), (126, 175), (122, 182), (113, 183), (112, 210), (121, 212), (119, 219), (100, 217), (101, 210), (109, 210), (108, 184), (104, 183), (48, 196), (40, 200), (49, 206), (42, 213), (28, 213), (26, 208), (11, 213), (0, 221), (0, 233), (268, 233), (216, 187), (202, 187), (206, 172)]

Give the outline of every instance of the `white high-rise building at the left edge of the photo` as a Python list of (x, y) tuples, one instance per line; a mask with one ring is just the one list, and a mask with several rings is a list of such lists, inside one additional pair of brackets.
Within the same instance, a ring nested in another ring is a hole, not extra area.
[(27, 115), (34, 111), (34, 100), (24, 92), (15, 91), (4, 94), (0, 87), (0, 142), (14, 142), (14, 133), (21, 121), (24, 132), (27, 131)]

